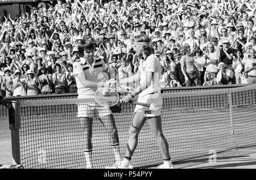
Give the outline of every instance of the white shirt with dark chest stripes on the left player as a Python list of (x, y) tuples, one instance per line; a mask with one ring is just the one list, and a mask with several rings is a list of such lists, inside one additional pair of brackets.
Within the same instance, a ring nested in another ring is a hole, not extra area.
[(99, 57), (93, 58), (92, 65), (90, 65), (89, 62), (86, 62), (84, 58), (77, 59), (77, 61), (73, 63), (73, 75), (75, 75), (77, 93), (84, 96), (84, 98), (85, 96), (94, 97), (94, 93), (97, 90), (97, 87), (84, 87), (79, 78), (77, 78), (77, 74), (84, 73), (86, 80), (92, 82), (101, 82), (104, 80), (102, 72), (105, 70), (105, 62)]

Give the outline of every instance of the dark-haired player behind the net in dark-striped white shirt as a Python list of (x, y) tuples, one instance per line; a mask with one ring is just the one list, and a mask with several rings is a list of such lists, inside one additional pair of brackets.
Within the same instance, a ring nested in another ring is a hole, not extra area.
[[(79, 44), (80, 59), (76, 59), (73, 63), (73, 75), (77, 84), (78, 98), (93, 98), (98, 87), (102, 87), (105, 80), (108, 80), (106, 65), (103, 59), (94, 57), (94, 45), (92, 41), (86, 39)], [(96, 102), (88, 102), (78, 105), (77, 117), (81, 119), (81, 124), (86, 133), (85, 139), (85, 158), (87, 168), (92, 166), (92, 125), (93, 118), (98, 118), (104, 124), (110, 135), (110, 145), (114, 151), (115, 164), (117, 166), (121, 162), (119, 152), (119, 138), (117, 127), (115, 126), (112, 111), (108, 106), (101, 106)]]

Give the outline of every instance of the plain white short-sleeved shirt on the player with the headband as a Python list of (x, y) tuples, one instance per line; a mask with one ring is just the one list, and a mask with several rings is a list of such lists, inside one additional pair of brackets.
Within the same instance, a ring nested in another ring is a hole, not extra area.
[(149, 87), (147, 87), (144, 91), (142, 91), (139, 94), (139, 97), (143, 97), (145, 95), (158, 92), (158, 89), (160, 87), (159, 85), (159, 79), (160, 79), (160, 73), (161, 73), (161, 66), (159, 62), (159, 58), (156, 57), (156, 55), (151, 54), (146, 58), (146, 61), (141, 61), (139, 70), (141, 72), (140, 76), (140, 84), (143, 82), (146, 82), (146, 72), (154, 72), (151, 80), (151, 84)]

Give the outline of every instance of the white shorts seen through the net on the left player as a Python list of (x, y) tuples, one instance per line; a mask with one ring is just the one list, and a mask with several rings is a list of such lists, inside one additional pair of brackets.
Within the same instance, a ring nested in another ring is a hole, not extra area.
[[(78, 98), (86, 98), (88, 96), (79, 95)], [(78, 118), (102, 118), (112, 114), (108, 106), (102, 106), (97, 102), (86, 102), (77, 104)]]

